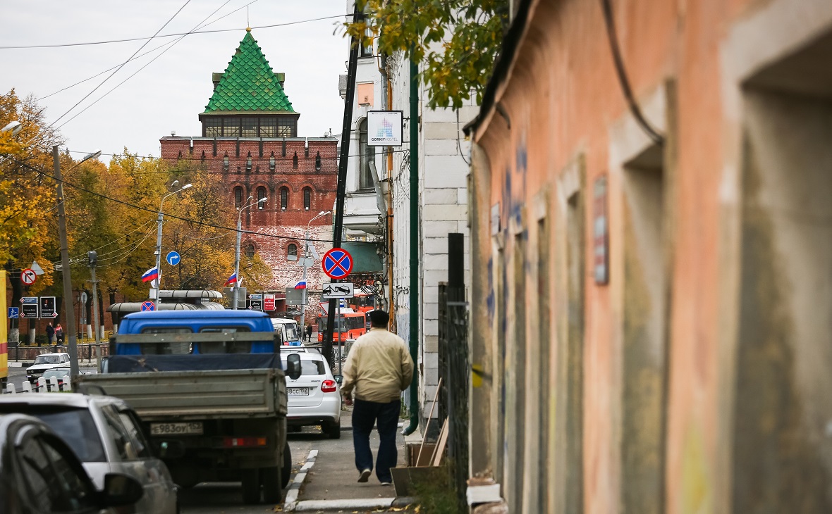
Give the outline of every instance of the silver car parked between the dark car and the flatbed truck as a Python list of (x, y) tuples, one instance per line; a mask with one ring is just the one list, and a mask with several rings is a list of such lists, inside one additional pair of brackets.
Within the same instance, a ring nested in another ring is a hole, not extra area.
[(178, 512), (177, 488), (153, 456), (136, 413), (121, 399), (86, 394), (7, 394), (0, 414), (28, 414), (61, 434), (99, 489), (109, 473), (133, 477), (145, 494), (136, 512)]

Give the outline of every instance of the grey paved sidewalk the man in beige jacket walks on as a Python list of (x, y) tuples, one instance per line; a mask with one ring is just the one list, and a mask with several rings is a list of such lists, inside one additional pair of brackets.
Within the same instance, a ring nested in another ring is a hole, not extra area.
[[(406, 419), (400, 423), (407, 425)], [(399, 466), (407, 463), (405, 454), (405, 438), (401, 433), (402, 428), (397, 429), (396, 443), (399, 449)], [(408, 441), (421, 441), (418, 431), (407, 437)], [(341, 438), (334, 444), (321, 445), (321, 448), (314, 450), (317, 453), (307, 460), (305, 465), (305, 477), (300, 489), (297, 492), (296, 501), (294, 495), (287, 494), (284, 505), (285, 511), (295, 512), (384, 512), (379, 509), (386, 507), (397, 508), (403, 512), (401, 507), (413, 503), (412, 498), (396, 498), (393, 486), (382, 486), (379, 483), (375, 472), (369, 477), (369, 482), (358, 483), (359, 472), (355, 469), (352, 432), (352, 408), (344, 410), (341, 415)], [(379, 434), (373, 432), (370, 435), (370, 448), (373, 448), (375, 457), (379, 448)], [(295, 486), (297, 489), (298, 487)]]

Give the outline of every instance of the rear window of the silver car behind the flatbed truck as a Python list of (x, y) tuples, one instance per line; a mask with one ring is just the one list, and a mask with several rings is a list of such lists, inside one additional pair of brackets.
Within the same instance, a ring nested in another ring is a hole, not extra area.
[(82, 463), (104, 463), (106, 455), (96, 423), (87, 409), (52, 405), (0, 404), (0, 413), (22, 413), (41, 419), (67, 442)]

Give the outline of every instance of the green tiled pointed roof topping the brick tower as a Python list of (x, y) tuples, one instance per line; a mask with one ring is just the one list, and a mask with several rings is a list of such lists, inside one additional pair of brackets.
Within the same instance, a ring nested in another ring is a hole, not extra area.
[(205, 110), (240, 111), (295, 112), (251, 32), (245, 33)]

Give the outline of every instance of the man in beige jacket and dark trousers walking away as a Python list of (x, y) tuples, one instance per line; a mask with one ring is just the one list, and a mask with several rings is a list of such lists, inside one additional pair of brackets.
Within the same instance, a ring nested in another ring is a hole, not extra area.
[[(404, 340), (387, 331), (390, 316), (385, 311), (370, 311), (371, 330), (355, 341), (344, 365), (341, 394), (353, 408), (353, 448), (359, 482), (367, 482), (373, 472), (373, 452), (369, 433), (379, 429), (379, 455), (375, 475), (383, 486), (393, 482), (390, 468), (396, 466), (396, 428), (399, 425), (400, 396), (410, 385), (414, 361)], [(352, 394), (354, 391), (355, 399)]]

